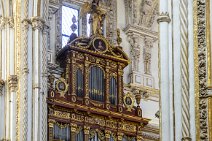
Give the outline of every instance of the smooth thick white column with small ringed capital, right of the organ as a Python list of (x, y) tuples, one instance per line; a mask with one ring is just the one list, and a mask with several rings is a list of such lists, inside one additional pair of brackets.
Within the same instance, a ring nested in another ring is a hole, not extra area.
[(170, 118), (170, 63), (169, 63), (169, 22), (171, 21), (168, 14), (168, 0), (160, 1), (160, 15), (158, 17), (159, 23), (159, 37), (160, 37), (160, 135), (163, 141), (172, 141), (173, 131), (171, 131)]

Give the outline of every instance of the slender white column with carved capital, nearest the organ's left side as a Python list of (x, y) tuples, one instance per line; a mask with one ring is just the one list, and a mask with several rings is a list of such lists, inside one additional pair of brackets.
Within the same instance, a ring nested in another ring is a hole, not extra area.
[[(36, 141), (39, 138), (39, 116), (40, 116), (40, 73), (41, 73), (41, 60), (40, 60), (40, 50), (41, 47), (41, 37), (43, 30), (43, 19), (35, 16), (31, 18), (32, 28), (33, 28), (33, 140)], [(42, 113), (43, 114), (43, 113)]]

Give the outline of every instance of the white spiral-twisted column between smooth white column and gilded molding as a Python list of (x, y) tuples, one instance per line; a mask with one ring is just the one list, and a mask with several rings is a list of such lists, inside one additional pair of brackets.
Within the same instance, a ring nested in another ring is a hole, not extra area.
[(188, 1), (180, 1), (180, 44), (181, 44), (181, 92), (182, 92), (182, 140), (190, 138), (189, 74), (188, 74)]

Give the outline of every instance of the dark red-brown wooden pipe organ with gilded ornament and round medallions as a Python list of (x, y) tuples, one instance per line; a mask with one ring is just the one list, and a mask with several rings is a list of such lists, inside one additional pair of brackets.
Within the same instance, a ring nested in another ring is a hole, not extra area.
[[(129, 59), (102, 35), (77, 37), (57, 56), (61, 77), (49, 76), (48, 140), (141, 141), (142, 117), (133, 94), (123, 92)], [(140, 101), (136, 101), (140, 103)]]

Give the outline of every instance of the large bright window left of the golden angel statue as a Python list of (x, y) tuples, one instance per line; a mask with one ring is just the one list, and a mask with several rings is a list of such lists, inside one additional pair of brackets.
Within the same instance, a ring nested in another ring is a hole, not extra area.
[[(76, 18), (76, 23), (73, 23), (72, 21), (73, 17)], [(79, 17), (78, 9), (68, 7), (68, 6), (62, 6), (62, 46), (63, 47), (67, 44), (71, 33), (74, 32), (77, 35), (79, 35), (78, 17)], [(73, 30), (73, 28), (75, 30)]]

